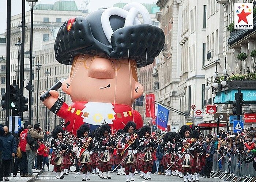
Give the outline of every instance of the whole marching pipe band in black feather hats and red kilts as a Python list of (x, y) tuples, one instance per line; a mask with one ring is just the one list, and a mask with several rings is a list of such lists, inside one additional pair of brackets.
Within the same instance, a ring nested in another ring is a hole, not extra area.
[[(106, 123), (91, 133), (90, 126), (83, 124), (76, 136), (67, 132), (64, 124), (58, 125), (52, 131), (50, 164), (54, 165), (56, 179), (63, 179), (70, 166), (76, 164), (76, 177), (83, 173), (82, 181), (90, 181), (90, 172), (101, 179), (111, 179), (111, 172), (117, 171), (117, 175), (125, 174), (126, 182), (130, 182), (135, 181), (138, 170), (141, 178), (150, 180), (153, 153), (160, 147), (165, 175), (183, 178), (184, 182), (199, 181), (206, 160), (203, 146), (207, 137), (188, 125), (182, 126), (178, 133), (157, 135), (152, 134), (149, 125), (136, 130), (132, 121), (124, 129), (112, 132)], [(116, 168), (112, 170), (114, 165)]]

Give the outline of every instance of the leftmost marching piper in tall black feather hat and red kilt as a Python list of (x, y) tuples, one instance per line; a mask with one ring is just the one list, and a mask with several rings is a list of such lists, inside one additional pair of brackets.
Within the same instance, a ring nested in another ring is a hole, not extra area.
[(64, 169), (68, 168), (68, 165), (71, 164), (69, 156), (66, 153), (69, 148), (65, 144), (63, 136), (63, 128), (60, 125), (57, 125), (52, 132), (53, 139), (51, 141), (51, 147), (53, 153), (50, 161), (50, 164), (53, 165), (53, 171), (56, 172), (56, 179), (63, 179)]

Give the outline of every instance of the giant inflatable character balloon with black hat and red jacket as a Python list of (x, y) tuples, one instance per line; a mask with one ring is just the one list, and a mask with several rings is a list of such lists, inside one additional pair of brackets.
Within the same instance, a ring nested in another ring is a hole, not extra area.
[(146, 7), (139, 3), (70, 18), (60, 27), (54, 50), (60, 64), (72, 66), (61, 88), (73, 103), (61, 100), (56, 88), (48, 95), (44, 91), (41, 100), (75, 135), (84, 123), (92, 131), (104, 122), (115, 130), (134, 121), (139, 129), (142, 117), (131, 107), (143, 94), (137, 68), (153, 63), (164, 42), (163, 31), (151, 25)]

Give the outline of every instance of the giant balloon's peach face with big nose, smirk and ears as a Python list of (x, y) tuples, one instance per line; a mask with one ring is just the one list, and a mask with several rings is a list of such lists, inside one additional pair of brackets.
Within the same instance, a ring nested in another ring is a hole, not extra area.
[[(130, 63), (130, 64), (129, 64)], [(67, 93), (73, 102), (104, 102), (132, 105), (143, 94), (137, 81), (136, 62), (99, 56), (75, 57)], [(66, 91), (67, 83), (63, 83)]]

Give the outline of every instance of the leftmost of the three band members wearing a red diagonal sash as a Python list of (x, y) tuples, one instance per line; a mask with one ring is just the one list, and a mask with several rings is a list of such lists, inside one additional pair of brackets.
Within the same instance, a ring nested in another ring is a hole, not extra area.
[(90, 127), (87, 124), (83, 124), (76, 131), (76, 136), (78, 137), (78, 147), (80, 151), (78, 165), (81, 166), (80, 172), (83, 172), (82, 181), (90, 180), (90, 171), (91, 171), (91, 158), (90, 153), (93, 149), (93, 141), (91, 137), (88, 136), (90, 133)]

